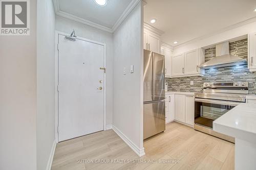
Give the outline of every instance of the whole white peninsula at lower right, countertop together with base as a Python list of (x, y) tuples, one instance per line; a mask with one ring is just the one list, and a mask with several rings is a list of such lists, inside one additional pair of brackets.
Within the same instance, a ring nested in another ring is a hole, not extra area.
[(256, 169), (255, 104), (239, 104), (214, 120), (213, 129), (235, 138), (234, 169)]

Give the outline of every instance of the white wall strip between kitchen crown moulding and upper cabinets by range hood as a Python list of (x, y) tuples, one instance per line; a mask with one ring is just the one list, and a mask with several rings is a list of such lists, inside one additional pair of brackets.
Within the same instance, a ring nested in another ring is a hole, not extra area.
[(256, 31), (256, 21), (247, 23), (246, 25), (226, 30), (224, 32), (220, 32), (218, 34), (214, 34), (212, 36), (208, 36), (202, 39), (197, 39), (194, 41), (189, 41), (188, 43), (181, 44), (174, 47), (174, 53), (180, 54), (190, 50), (194, 50), (199, 47), (208, 46), (211, 44), (216, 44), (222, 41), (226, 41), (232, 38), (240, 37), (245, 34), (255, 32)]

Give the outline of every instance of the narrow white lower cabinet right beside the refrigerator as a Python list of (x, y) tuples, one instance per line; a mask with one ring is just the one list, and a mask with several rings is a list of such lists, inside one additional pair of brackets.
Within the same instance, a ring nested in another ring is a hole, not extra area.
[(174, 94), (165, 95), (165, 123), (174, 120)]

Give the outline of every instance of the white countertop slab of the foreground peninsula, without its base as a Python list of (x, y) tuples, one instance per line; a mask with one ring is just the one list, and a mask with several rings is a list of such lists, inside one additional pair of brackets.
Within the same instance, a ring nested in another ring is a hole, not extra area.
[(256, 143), (256, 105), (240, 104), (213, 122), (214, 131)]

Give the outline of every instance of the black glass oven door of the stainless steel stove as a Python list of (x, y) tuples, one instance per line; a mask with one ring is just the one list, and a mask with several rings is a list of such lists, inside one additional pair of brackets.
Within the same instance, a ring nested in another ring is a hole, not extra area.
[(195, 99), (195, 124), (212, 129), (212, 122), (239, 102), (219, 101), (210, 99)]

